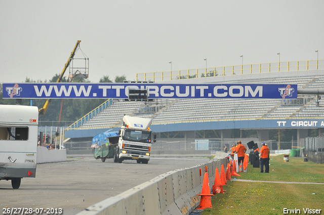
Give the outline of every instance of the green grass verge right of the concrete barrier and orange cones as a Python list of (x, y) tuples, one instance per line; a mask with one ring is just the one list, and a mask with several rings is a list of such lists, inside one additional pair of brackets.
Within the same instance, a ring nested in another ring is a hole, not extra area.
[[(272, 170), (273, 169), (273, 170)], [(283, 155), (271, 156), (270, 173), (260, 173), (260, 168), (249, 164), (247, 173), (239, 173), (239, 179), (259, 181), (319, 182), (324, 183), (324, 165), (304, 162), (304, 158), (293, 157), (284, 161)], [(213, 184), (213, 183), (212, 183)], [(225, 194), (212, 198), (213, 208), (208, 214), (284, 214), (284, 208), (321, 209), (324, 214), (324, 185), (284, 184), (263, 182), (227, 182)], [(290, 213), (292, 214), (292, 213)]]

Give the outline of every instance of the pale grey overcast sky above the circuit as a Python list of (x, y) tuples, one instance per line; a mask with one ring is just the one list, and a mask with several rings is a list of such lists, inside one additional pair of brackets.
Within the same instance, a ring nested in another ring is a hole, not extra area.
[(77, 40), (91, 82), (241, 65), (240, 55), (243, 64), (278, 62), (277, 53), (324, 59), (323, 9), (322, 0), (0, 0), (0, 83), (50, 80)]

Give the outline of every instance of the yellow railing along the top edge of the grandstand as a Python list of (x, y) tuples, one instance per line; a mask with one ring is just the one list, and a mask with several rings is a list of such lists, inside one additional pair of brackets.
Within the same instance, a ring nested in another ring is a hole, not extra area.
[(137, 73), (137, 81), (163, 81), (237, 74), (288, 72), (324, 69), (324, 60), (289, 61), (275, 63), (245, 64), (164, 72)]

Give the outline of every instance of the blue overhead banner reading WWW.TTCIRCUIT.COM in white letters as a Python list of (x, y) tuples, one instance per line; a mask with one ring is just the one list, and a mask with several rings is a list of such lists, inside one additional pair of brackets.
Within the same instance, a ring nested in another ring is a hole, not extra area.
[(4, 83), (4, 99), (127, 99), (147, 89), (149, 99), (296, 99), (297, 84)]

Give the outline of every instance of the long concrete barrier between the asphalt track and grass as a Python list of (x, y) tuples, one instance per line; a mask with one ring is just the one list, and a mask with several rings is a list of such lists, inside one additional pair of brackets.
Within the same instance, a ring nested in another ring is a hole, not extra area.
[[(214, 181), (216, 168), (226, 166), (228, 159), (169, 171), (154, 179), (87, 207), (78, 215), (103, 214), (189, 214), (199, 206), (204, 174)], [(212, 186), (211, 186), (212, 187)], [(212, 192), (212, 190), (211, 190)]]

